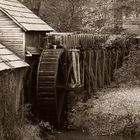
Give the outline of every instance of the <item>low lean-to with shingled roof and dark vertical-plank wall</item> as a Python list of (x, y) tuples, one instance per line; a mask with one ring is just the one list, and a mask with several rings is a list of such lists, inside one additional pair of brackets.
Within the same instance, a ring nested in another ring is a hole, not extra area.
[[(24, 76), (28, 64), (0, 43), (0, 125), (13, 130), (16, 115), (24, 103)], [(16, 120), (17, 121), (17, 120)], [(8, 131), (9, 132), (9, 131)]]

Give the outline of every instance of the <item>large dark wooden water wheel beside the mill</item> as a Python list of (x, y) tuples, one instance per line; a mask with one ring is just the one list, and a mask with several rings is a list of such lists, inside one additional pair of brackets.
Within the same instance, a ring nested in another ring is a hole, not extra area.
[(60, 127), (65, 107), (65, 72), (63, 49), (45, 49), (40, 57), (37, 76), (38, 115)]

